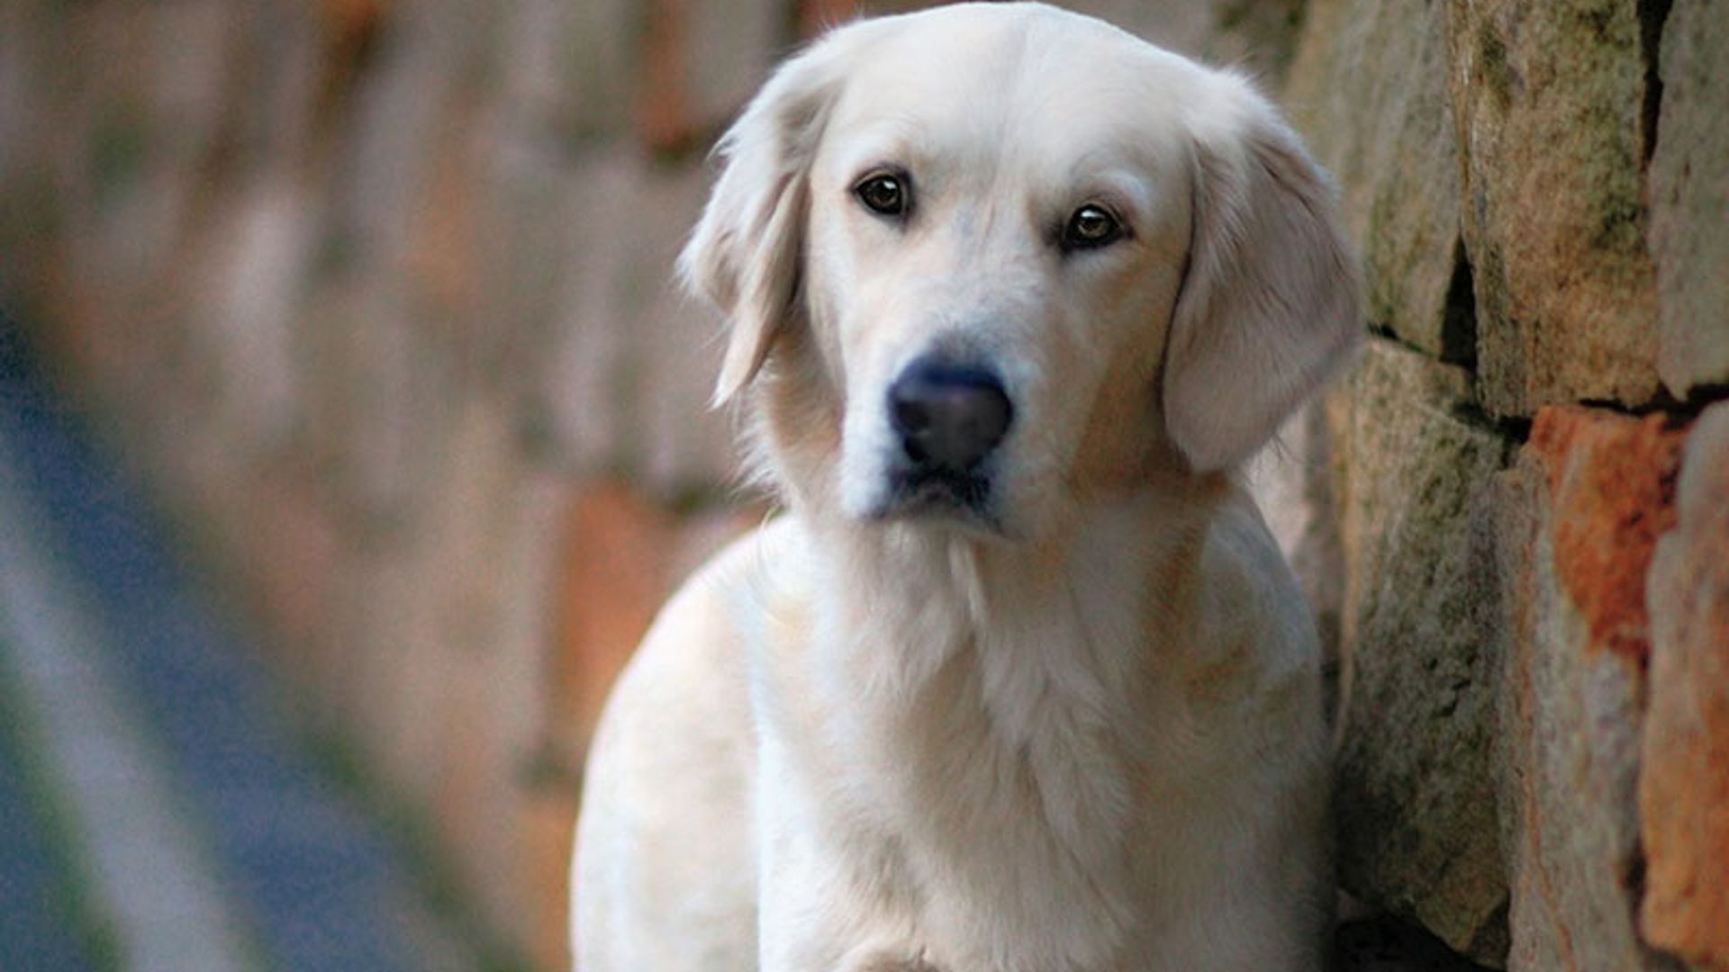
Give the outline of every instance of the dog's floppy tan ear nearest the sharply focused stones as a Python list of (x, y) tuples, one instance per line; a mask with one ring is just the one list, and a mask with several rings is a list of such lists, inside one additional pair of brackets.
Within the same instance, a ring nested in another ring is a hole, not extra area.
[(1331, 185), (1273, 106), (1221, 80), (1195, 121), (1195, 228), (1164, 365), (1165, 429), (1196, 470), (1248, 458), (1361, 334)]

